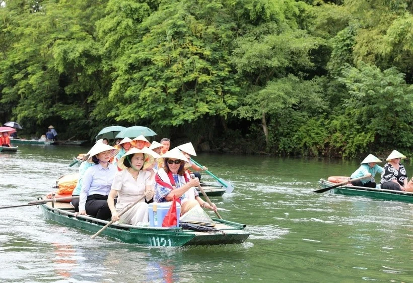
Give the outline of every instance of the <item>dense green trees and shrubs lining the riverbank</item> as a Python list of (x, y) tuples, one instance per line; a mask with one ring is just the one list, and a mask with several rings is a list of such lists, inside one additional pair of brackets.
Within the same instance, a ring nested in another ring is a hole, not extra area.
[(143, 125), (204, 149), (413, 156), (411, 1), (1, 3), (0, 121), (23, 134)]

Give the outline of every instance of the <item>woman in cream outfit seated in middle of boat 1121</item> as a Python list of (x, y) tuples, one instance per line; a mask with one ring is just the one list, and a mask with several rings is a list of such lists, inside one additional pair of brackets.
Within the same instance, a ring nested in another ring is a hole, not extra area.
[[(119, 159), (118, 166), (122, 171), (116, 173), (108, 197), (113, 221), (135, 226), (148, 222), (148, 204), (144, 198), (151, 200), (155, 192), (151, 172), (145, 170), (153, 163), (154, 157), (149, 152), (137, 148), (132, 148)], [(119, 211), (137, 200), (141, 201), (119, 217)]]

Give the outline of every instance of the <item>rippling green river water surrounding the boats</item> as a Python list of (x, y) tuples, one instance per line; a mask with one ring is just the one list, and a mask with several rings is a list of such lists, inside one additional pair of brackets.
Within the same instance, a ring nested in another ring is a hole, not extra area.
[[(21, 145), (17, 153), (0, 153), (0, 206), (51, 192), (57, 177), (77, 171), (68, 167), (72, 157), (87, 150)], [(413, 204), (311, 193), (320, 178), (350, 175), (360, 161), (216, 154), (195, 160), (233, 183), (233, 194), (212, 201), (224, 219), (247, 225), (245, 243), (149, 248), (92, 240), (45, 221), (35, 206), (3, 209), (0, 281), (413, 281)], [(413, 166), (406, 169), (411, 177)]]

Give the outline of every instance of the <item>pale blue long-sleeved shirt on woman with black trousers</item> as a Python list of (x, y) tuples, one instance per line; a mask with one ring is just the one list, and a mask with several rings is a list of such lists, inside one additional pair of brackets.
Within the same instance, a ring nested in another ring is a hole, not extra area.
[(106, 169), (98, 163), (86, 170), (80, 191), (79, 211), (86, 210), (85, 206), (88, 196), (109, 195), (116, 172), (117, 167), (110, 163)]

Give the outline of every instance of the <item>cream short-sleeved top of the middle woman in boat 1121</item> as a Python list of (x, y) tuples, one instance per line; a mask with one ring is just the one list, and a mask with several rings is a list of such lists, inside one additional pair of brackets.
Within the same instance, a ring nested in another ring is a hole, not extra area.
[[(152, 185), (151, 173), (139, 170), (135, 180), (128, 170), (118, 171), (113, 179), (112, 190), (118, 191), (116, 210), (119, 211), (144, 197), (145, 186)], [(144, 202), (144, 200), (142, 200)]]

